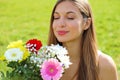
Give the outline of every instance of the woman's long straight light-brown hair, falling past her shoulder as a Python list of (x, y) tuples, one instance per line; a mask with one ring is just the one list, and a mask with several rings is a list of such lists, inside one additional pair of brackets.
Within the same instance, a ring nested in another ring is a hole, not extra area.
[(53, 14), (57, 5), (63, 1), (71, 1), (78, 7), (83, 18), (91, 18), (90, 27), (84, 30), (81, 34), (80, 41), (80, 64), (79, 70), (76, 75), (78, 75), (77, 80), (99, 80), (98, 74), (98, 60), (97, 60), (97, 44), (96, 35), (93, 22), (92, 11), (87, 0), (58, 0), (53, 8), (50, 22), (50, 31), (48, 38), (48, 45), (50, 44), (60, 44), (52, 29), (53, 24)]

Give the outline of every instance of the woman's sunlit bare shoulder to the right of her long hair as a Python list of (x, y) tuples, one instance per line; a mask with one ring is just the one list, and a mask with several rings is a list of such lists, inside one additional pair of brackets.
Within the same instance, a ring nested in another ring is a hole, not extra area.
[(101, 53), (99, 56), (100, 80), (117, 80), (117, 69), (113, 59)]

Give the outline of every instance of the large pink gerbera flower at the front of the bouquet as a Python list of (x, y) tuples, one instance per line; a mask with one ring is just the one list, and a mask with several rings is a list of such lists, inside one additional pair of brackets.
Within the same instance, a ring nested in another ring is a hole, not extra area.
[(57, 59), (49, 59), (43, 62), (40, 72), (43, 80), (59, 80), (63, 69)]

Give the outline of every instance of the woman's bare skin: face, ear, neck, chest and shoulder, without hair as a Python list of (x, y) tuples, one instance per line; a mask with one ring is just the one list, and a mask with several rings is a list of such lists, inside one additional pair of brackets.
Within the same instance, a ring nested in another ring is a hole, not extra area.
[[(79, 9), (70, 1), (64, 1), (56, 7), (52, 28), (58, 41), (68, 49), (70, 60), (73, 63), (65, 71), (61, 80), (76, 80), (77, 76), (72, 78), (78, 70), (80, 61), (81, 33), (89, 28), (90, 22), (91, 18), (83, 19)], [(117, 80), (116, 66), (108, 55), (100, 54), (99, 69), (100, 80)]]

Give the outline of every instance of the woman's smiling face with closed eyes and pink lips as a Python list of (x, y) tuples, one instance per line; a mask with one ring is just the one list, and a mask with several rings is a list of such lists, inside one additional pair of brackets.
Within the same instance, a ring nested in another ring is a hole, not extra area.
[(56, 7), (52, 28), (59, 42), (80, 39), (82, 26), (83, 17), (72, 2), (64, 1)]

